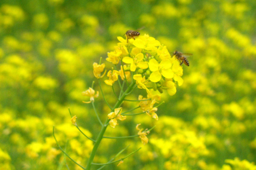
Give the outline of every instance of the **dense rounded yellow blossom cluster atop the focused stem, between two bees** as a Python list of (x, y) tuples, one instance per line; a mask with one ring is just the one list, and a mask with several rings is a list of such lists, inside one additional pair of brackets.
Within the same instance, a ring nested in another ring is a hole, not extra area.
[[(131, 71), (136, 80), (137, 87), (143, 88), (149, 93), (149, 88), (161, 93), (167, 90), (169, 95), (176, 93), (177, 85), (183, 84), (183, 69), (174, 56), (171, 56), (166, 46), (161, 45), (158, 40), (149, 35), (137, 37), (135, 40), (117, 37), (120, 41), (115, 50), (108, 53), (107, 61), (114, 65), (121, 61), (127, 65), (121, 66), (121, 70)], [(108, 72), (108, 85), (113, 85), (118, 79), (119, 73), (115, 70)], [(129, 74), (130, 75), (130, 74)], [(124, 76), (121, 78), (123, 79)]]

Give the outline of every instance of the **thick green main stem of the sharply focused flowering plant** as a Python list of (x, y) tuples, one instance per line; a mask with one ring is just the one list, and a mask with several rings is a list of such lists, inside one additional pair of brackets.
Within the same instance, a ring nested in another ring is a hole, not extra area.
[[(113, 107), (113, 109), (111, 110), (111, 112), (113, 112), (113, 111), (115, 110), (115, 108), (119, 108), (119, 107), (120, 107), (120, 105), (122, 104), (122, 102), (123, 102), (123, 100), (125, 99), (125, 97), (127, 96), (127, 94), (129, 94), (129, 93), (132, 91), (134, 85), (135, 85), (135, 81), (134, 81), (134, 82), (126, 89), (126, 91), (122, 94), (122, 96), (121, 96), (121, 97), (119, 98), (119, 100), (116, 102), (116, 104), (115, 104), (115, 106)], [(92, 165), (94, 156), (95, 156), (96, 151), (97, 151), (97, 149), (98, 149), (98, 147), (99, 147), (99, 144), (100, 144), (100, 142), (101, 142), (101, 140), (102, 140), (102, 138), (103, 138), (103, 135), (104, 135), (104, 133), (105, 133), (107, 127), (108, 127), (108, 122), (109, 122), (109, 121), (110, 121), (110, 119), (106, 119), (104, 125), (102, 126), (102, 128), (101, 128), (101, 130), (100, 130), (100, 132), (99, 132), (99, 135), (98, 135), (98, 137), (97, 137), (97, 139), (96, 139), (96, 142), (95, 142), (95, 144), (94, 144), (94, 146), (93, 146), (93, 150), (92, 150), (92, 152), (91, 152), (91, 154), (90, 154), (90, 158), (89, 158), (88, 161), (87, 161), (87, 166), (86, 166), (85, 170), (90, 170), (90, 168), (91, 168), (91, 165)]]

